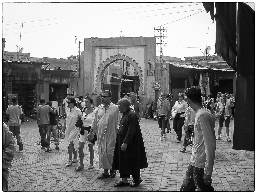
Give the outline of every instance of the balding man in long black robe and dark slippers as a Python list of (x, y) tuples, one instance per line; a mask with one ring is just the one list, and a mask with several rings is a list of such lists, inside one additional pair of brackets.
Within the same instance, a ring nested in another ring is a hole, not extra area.
[[(114, 187), (137, 187), (143, 181), (140, 169), (148, 167), (144, 141), (137, 116), (130, 109), (129, 100), (122, 98), (117, 105), (123, 116), (118, 125), (112, 169), (120, 171), (122, 181), (114, 184)], [(130, 175), (134, 180), (131, 184), (127, 180)]]

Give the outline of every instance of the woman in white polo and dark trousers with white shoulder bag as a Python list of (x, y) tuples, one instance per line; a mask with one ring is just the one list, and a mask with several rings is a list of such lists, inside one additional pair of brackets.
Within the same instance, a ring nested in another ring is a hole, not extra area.
[[(182, 127), (184, 125), (185, 121), (185, 112), (186, 109), (188, 108), (188, 104), (183, 100), (185, 95), (183, 93), (178, 94), (178, 101), (175, 102), (175, 105), (171, 109), (171, 113), (175, 110), (178, 110), (176, 117), (173, 118), (172, 126), (173, 130), (177, 134), (177, 143), (181, 141), (182, 138)], [(171, 119), (171, 115), (170, 118)]]

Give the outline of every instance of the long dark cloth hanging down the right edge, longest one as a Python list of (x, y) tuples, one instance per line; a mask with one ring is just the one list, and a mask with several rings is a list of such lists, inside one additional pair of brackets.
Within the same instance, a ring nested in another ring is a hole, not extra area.
[(233, 149), (254, 151), (254, 10), (237, 8), (237, 76)]

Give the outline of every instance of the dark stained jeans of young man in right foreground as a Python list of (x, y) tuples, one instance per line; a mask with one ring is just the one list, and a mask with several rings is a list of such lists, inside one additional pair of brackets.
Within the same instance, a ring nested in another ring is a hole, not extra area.
[(180, 191), (214, 191), (213, 186), (204, 183), (204, 168), (189, 164)]

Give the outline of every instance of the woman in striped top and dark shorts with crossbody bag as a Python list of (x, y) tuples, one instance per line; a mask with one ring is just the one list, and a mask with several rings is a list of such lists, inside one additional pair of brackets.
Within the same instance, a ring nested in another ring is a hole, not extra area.
[[(226, 105), (225, 105), (226, 103)], [(226, 133), (227, 133), (227, 141), (231, 141), (230, 137), (229, 137), (229, 124), (230, 124), (230, 119), (233, 120), (233, 116), (232, 116), (232, 111), (230, 108), (230, 103), (228, 103), (227, 101), (227, 97), (225, 94), (221, 95), (221, 101), (219, 101), (217, 103), (217, 107), (216, 107), (216, 111), (215, 111), (215, 119), (216, 119), (216, 115), (219, 111), (222, 111), (223, 108), (225, 106), (225, 110), (224, 110), (224, 116), (222, 118), (219, 118), (219, 129), (218, 129), (218, 137), (216, 138), (216, 140), (220, 140), (221, 139), (221, 129), (223, 127), (223, 123), (225, 121), (225, 127), (226, 127)]]

